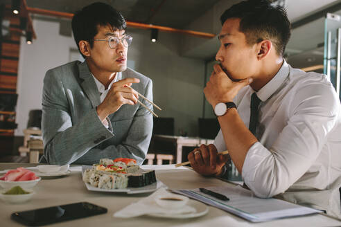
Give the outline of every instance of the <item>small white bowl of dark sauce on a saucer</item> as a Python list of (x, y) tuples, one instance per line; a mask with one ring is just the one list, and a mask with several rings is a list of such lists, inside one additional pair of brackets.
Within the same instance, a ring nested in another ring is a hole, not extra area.
[(182, 208), (186, 205), (186, 203), (189, 201), (188, 197), (184, 197), (180, 194), (166, 194), (166, 195), (158, 195), (155, 197), (155, 201), (157, 205), (163, 207), (163, 208)]

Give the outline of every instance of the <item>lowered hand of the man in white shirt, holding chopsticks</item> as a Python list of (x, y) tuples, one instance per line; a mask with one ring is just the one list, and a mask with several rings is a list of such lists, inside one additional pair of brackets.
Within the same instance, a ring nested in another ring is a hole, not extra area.
[(218, 154), (213, 144), (201, 145), (188, 155), (191, 167), (203, 176), (219, 176), (228, 160), (227, 155)]

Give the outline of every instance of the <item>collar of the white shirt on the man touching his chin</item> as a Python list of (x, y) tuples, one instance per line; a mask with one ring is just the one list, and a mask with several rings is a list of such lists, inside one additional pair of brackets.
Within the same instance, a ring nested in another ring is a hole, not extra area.
[(267, 83), (265, 84), (259, 91), (257, 91), (258, 98), (265, 102), (272, 96), (272, 94), (281, 87), (281, 84), (283, 84), (284, 80), (289, 75), (289, 65), (286, 63), (286, 60), (283, 60), (283, 64), (281, 66), (281, 69), (277, 72), (276, 75)]

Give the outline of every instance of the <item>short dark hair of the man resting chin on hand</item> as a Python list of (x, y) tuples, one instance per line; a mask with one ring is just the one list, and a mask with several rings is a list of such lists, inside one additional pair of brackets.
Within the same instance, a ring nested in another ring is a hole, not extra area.
[(245, 34), (247, 44), (253, 45), (268, 39), (278, 55), (283, 56), (290, 39), (290, 21), (283, 6), (273, 6), (268, 0), (248, 0), (237, 3), (220, 17), (222, 24), (227, 19), (239, 18), (239, 30)]

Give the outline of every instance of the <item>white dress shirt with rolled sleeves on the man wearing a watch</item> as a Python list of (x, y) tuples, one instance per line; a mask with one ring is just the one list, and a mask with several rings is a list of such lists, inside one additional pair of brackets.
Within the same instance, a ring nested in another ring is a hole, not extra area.
[[(254, 92), (244, 87), (234, 99), (247, 127)], [(279, 195), (341, 218), (341, 105), (331, 82), (284, 61), (257, 96), (259, 142), (247, 152), (243, 181), (258, 197)], [(226, 150), (221, 130), (214, 145)]]

